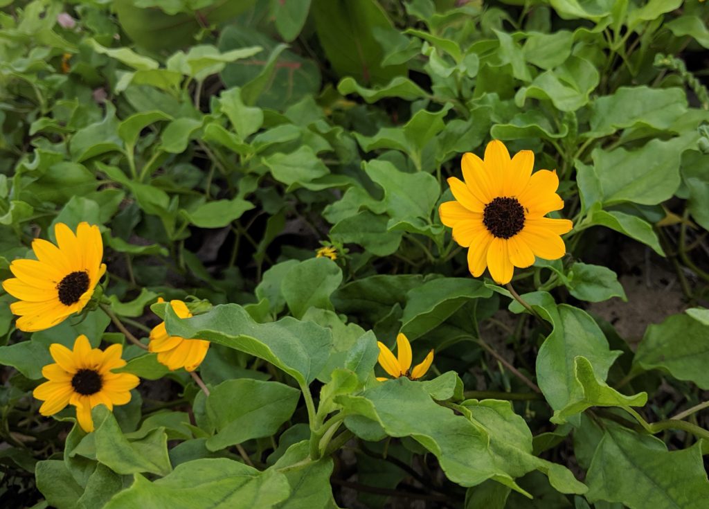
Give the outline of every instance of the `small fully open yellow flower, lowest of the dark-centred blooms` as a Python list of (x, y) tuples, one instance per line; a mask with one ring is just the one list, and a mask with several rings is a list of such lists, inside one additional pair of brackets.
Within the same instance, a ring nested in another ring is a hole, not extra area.
[(104, 404), (113, 410), (113, 405), (125, 405), (130, 401), (130, 389), (140, 383), (134, 374), (111, 371), (125, 366), (122, 345), (111, 345), (105, 351), (91, 348), (89, 339), (82, 334), (74, 341), (73, 350), (52, 343), (49, 352), (55, 364), (42, 368), (48, 381), (33, 391), (35, 398), (44, 401), (40, 413), (54, 415), (67, 405), (74, 405), (77, 422), (86, 432), (94, 431), (91, 408)]

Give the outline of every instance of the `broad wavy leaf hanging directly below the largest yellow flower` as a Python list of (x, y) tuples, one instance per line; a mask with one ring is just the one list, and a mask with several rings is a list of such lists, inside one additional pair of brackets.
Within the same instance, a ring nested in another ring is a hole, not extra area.
[[(603, 381), (621, 352), (608, 347), (603, 331), (586, 311), (568, 304), (557, 305), (546, 292), (525, 293), (523, 298), (553, 326), (537, 354), (537, 384), (549, 405), (559, 410), (574, 398), (576, 357), (588, 359)], [(520, 313), (523, 307), (512, 301), (510, 311)]]

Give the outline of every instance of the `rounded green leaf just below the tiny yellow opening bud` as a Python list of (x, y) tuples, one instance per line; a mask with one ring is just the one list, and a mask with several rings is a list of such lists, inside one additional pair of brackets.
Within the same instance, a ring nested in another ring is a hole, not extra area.
[(333, 309), (330, 293), (340, 286), (342, 270), (333, 260), (320, 257), (297, 264), (283, 278), (281, 293), (296, 318), (311, 307)]

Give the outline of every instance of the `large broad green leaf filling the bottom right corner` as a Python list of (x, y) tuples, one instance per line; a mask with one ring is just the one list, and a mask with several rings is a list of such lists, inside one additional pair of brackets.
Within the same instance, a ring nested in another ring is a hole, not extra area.
[(630, 509), (700, 509), (709, 481), (700, 443), (668, 452), (661, 440), (622, 427), (609, 427), (586, 476), (586, 498), (622, 503)]

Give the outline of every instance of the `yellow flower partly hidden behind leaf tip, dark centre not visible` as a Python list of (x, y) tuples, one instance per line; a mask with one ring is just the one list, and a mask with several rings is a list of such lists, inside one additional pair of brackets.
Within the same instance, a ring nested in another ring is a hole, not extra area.
[[(161, 298), (158, 302), (164, 302)], [(187, 306), (182, 301), (170, 301), (172, 311), (179, 318), (191, 318)], [(184, 337), (171, 336), (167, 333), (165, 323), (161, 322), (150, 331), (150, 343), (147, 345), (150, 352), (157, 353), (157, 361), (164, 364), (170, 371), (184, 367), (187, 371), (194, 371), (202, 363), (209, 349), (206, 340), (186, 340)]]

